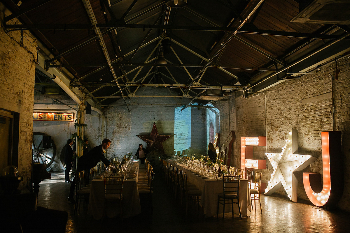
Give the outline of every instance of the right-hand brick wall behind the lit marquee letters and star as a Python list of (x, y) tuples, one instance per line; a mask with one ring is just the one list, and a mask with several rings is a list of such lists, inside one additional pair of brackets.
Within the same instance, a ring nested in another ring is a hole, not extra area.
[[(350, 58), (338, 60), (339, 80), (334, 81), (334, 130), (342, 132), (344, 154), (344, 194), (339, 207), (350, 211)], [(317, 72), (335, 75), (335, 63), (323, 66)], [(298, 131), (299, 153), (317, 157), (303, 172), (322, 174), (321, 132), (332, 130), (331, 79), (329, 75), (309, 74), (301, 79), (282, 82), (265, 91), (267, 102), (267, 151), (280, 153), (290, 129)], [(239, 166), (240, 137), (265, 136), (265, 96), (244, 99), (230, 97), (229, 102), (219, 102), (221, 140), (227, 137), (229, 125), (236, 133), (232, 154), (232, 166)], [(230, 115), (230, 117), (229, 117)], [(254, 158), (266, 159), (265, 147), (254, 147)], [(268, 168), (272, 168), (268, 162)], [(261, 170), (263, 182), (267, 182), (272, 170)], [(303, 188), (302, 172), (298, 179), (298, 197), (308, 200)], [(284, 189), (277, 191), (286, 195)]]

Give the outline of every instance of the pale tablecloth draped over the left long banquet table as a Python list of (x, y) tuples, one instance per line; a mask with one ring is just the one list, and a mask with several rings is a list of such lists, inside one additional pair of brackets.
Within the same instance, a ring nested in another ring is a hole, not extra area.
[[(137, 173), (135, 179), (124, 180), (122, 191), (122, 211), (123, 218), (128, 218), (141, 213), (141, 205), (139, 198), (139, 190), (137, 188), (138, 180), (138, 161), (134, 162), (137, 166)], [(90, 199), (87, 214), (93, 216), (94, 219), (101, 219), (104, 215), (105, 208), (105, 188), (103, 178), (94, 179), (90, 185)], [(107, 203), (106, 215), (109, 218), (116, 217), (120, 212), (118, 203)]]

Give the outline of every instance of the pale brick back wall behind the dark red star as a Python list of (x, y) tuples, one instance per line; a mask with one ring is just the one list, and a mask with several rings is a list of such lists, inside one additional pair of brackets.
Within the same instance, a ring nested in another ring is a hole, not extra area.
[[(157, 87), (140, 88), (137, 95), (177, 95), (177, 93), (167, 88)], [(163, 147), (167, 155), (174, 154), (174, 109), (179, 107), (176, 104), (180, 100), (180, 98), (132, 98), (132, 100), (126, 100), (130, 104), (130, 112), (127, 110), (123, 100), (116, 102), (118, 106), (107, 108), (105, 111), (107, 117), (107, 138), (112, 141), (111, 147), (107, 152), (108, 157), (122, 156), (127, 152), (135, 154), (140, 143), (146, 146), (145, 141), (136, 135), (149, 135), (154, 122), (160, 135), (173, 135), (163, 143)], [(182, 100), (181, 104), (186, 105), (188, 101)], [(159, 106), (142, 106), (145, 104), (159, 104)], [(205, 110), (198, 110), (197, 108), (192, 108), (191, 110), (191, 115), (193, 116), (192, 124), (204, 124), (204, 126), (198, 126), (198, 133), (191, 133), (191, 140), (194, 140), (196, 147), (201, 148), (202, 153), (204, 153), (206, 148)], [(154, 155), (159, 155), (159, 153), (154, 152)]]

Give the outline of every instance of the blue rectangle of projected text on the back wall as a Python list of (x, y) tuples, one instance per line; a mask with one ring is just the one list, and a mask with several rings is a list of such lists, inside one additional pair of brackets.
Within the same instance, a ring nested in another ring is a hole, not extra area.
[(174, 149), (181, 152), (191, 146), (191, 108), (182, 108), (175, 108), (174, 121)]

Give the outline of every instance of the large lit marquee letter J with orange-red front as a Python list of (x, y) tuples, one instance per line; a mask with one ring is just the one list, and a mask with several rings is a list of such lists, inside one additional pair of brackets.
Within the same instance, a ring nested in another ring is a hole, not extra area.
[(303, 182), (306, 194), (314, 205), (331, 207), (339, 202), (344, 187), (341, 133), (321, 132), (321, 138), (323, 187), (320, 173), (303, 173)]

